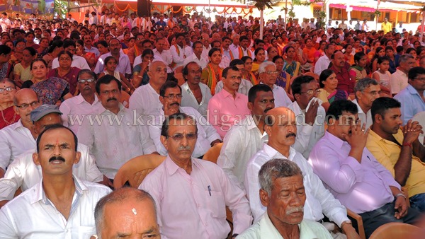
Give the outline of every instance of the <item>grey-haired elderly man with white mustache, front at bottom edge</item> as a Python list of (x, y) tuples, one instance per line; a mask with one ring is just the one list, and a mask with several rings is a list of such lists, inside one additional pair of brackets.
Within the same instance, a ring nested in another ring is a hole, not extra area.
[(307, 195), (302, 181), (302, 171), (292, 161), (275, 158), (262, 165), (259, 171), (260, 200), (267, 211), (237, 239), (331, 239), (322, 224), (303, 218)]

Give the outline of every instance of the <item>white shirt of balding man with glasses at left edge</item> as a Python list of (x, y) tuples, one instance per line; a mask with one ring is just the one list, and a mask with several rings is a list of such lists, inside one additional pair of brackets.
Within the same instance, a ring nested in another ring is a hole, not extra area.
[(33, 134), (21, 120), (0, 130), (0, 168), (4, 170), (16, 157), (35, 148)]

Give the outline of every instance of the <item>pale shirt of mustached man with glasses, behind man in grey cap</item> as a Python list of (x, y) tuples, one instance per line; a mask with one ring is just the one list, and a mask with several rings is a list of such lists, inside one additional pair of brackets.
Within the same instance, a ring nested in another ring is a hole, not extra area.
[(79, 127), (83, 123), (84, 117), (90, 115), (91, 112), (98, 107), (102, 107), (102, 103), (98, 100), (96, 94), (94, 94), (93, 104), (88, 103), (84, 100), (83, 96), (79, 94), (64, 100), (64, 102), (60, 104), (59, 110), (62, 112), (64, 126), (69, 127), (74, 134), (77, 134)]

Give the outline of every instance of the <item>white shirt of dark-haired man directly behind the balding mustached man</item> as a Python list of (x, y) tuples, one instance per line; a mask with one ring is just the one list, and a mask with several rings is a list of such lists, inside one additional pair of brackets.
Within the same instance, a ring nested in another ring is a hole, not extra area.
[(227, 132), (217, 165), (225, 171), (230, 180), (244, 190), (246, 165), (267, 140), (266, 132), (261, 134), (254, 118), (249, 115)]

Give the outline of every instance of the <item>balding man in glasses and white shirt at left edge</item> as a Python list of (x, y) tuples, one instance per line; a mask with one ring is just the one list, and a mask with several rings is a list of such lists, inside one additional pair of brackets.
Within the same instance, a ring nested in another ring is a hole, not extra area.
[[(17, 156), (35, 148), (35, 133), (30, 112), (41, 105), (38, 95), (32, 89), (21, 89), (16, 92), (13, 104), (16, 114), (21, 119), (0, 130), (0, 171), (6, 170)], [(0, 177), (3, 177), (3, 174), (0, 173)]]

